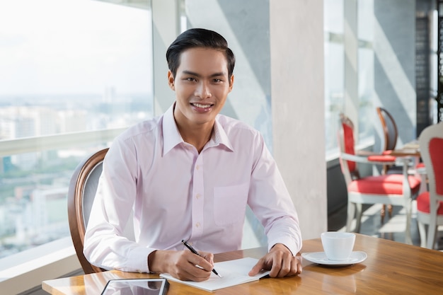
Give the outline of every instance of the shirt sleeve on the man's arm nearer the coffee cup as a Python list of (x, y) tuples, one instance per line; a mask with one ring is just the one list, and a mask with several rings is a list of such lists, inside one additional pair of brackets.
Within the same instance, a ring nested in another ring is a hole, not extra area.
[(265, 228), (268, 250), (282, 243), (297, 255), (301, 250), (301, 231), (294, 203), (274, 158), (263, 137), (255, 137), (254, 166), (248, 204)]

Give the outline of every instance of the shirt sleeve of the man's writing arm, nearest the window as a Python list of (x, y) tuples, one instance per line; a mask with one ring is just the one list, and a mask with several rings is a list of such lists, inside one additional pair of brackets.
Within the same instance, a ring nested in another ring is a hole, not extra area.
[(134, 206), (136, 183), (134, 149), (122, 147), (122, 141), (116, 139), (103, 162), (85, 233), (84, 255), (93, 265), (106, 270), (149, 272), (147, 258), (155, 249), (143, 247), (125, 237), (125, 227)]

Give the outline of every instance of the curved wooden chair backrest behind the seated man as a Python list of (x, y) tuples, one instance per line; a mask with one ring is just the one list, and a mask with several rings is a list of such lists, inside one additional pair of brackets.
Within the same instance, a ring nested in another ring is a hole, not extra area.
[(72, 242), (85, 274), (101, 272), (91, 265), (83, 254), (84, 236), (93, 199), (96, 196), (98, 178), (108, 148), (97, 151), (79, 163), (71, 177), (68, 190), (68, 219)]

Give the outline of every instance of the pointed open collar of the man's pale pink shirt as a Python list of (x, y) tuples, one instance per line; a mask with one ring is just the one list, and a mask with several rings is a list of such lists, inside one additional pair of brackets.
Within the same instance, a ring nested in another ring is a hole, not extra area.
[[(163, 115), (163, 156), (168, 154), (168, 151), (171, 151), (175, 146), (184, 142), (174, 119), (174, 105), (176, 103), (173, 103)], [(212, 132), (212, 137), (209, 139), (207, 147), (223, 144), (226, 148), (234, 151), (231, 141), (229, 141), (229, 137), (218, 118), (219, 115), (215, 118), (214, 132)]]

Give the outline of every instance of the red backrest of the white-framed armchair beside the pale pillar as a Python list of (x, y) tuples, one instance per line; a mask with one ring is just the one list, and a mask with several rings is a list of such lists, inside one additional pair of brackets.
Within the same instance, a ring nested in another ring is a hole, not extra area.
[[(340, 154), (355, 155), (354, 124), (343, 113), (340, 114), (338, 144), (340, 147)], [(347, 185), (349, 185), (353, 179), (359, 178), (357, 163), (354, 161), (344, 160), (340, 156), (340, 166)]]

